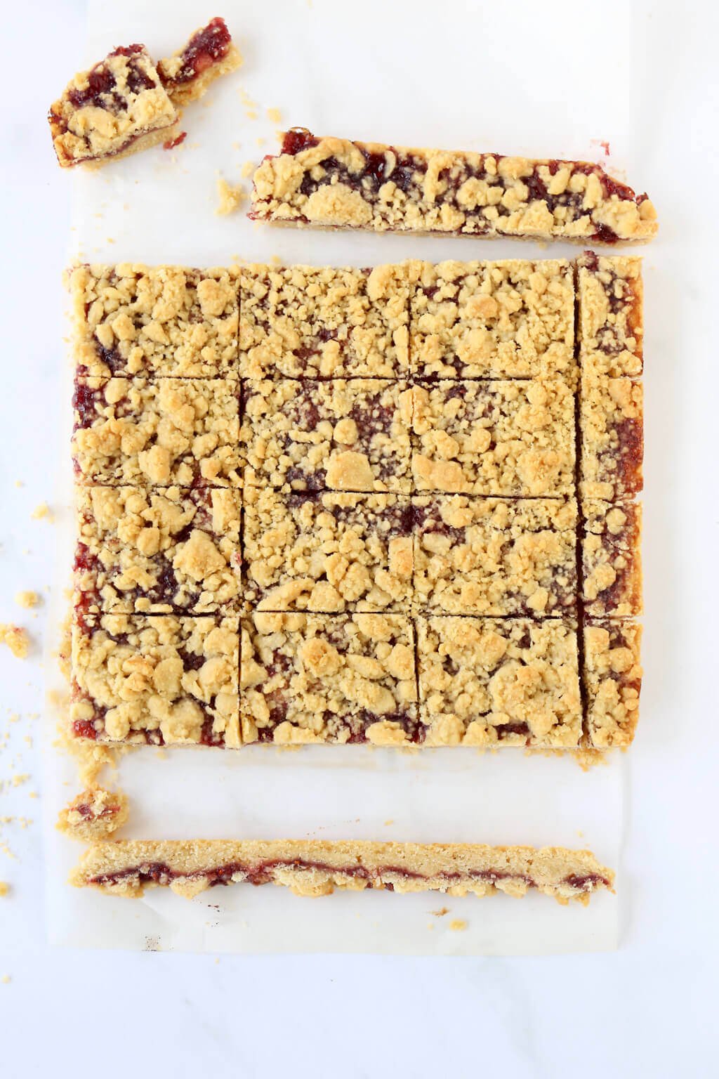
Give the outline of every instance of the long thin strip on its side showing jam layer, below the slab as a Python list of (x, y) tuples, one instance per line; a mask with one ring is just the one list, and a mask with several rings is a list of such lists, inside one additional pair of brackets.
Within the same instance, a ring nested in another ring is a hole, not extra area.
[(440, 891), (447, 896), (522, 897), (531, 889), (589, 902), (613, 891), (614, 874), (590, 850), (480, 844), (373, 843), (363, 839), (120, 841), (83, 853), (71, 883), (117, 896), (169, 886), (186, 898), (220, 884), (276, 884), (298, 896), (362, 891)]

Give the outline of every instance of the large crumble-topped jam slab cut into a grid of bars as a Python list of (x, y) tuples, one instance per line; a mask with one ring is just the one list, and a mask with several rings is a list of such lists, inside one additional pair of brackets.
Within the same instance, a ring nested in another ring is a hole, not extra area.
[(628, 745), (638, 260), (70, 284), (75, 737)]

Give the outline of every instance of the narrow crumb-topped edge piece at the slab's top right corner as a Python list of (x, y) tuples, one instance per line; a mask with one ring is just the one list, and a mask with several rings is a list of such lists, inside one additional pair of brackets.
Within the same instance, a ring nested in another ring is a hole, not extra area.
[(641, 374), (641, 259), (585, 251), (577, 259), (582, 364), (610, 378)]

